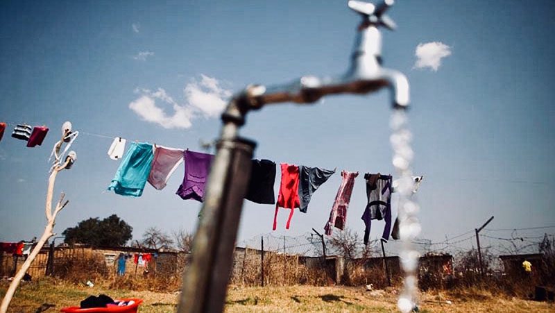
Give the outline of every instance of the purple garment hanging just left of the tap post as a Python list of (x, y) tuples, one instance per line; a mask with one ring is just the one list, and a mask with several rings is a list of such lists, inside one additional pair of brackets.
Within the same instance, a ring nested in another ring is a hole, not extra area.
[(183, 155), (185, 176), (176, 194), (184, 200), (194, 199), (203, 202), (206, 180), (210, 174), (210, 165), (212, 165), (214, 155), (189, 150), (185, 151)]

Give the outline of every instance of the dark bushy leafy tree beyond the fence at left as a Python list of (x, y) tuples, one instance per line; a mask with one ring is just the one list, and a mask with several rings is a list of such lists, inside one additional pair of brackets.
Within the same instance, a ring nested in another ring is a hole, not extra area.
[(92, 246), (123, 246), (131, 239), (133, 227), (119, 219), (116, 214), (101, 220), (91, 217), (77, 226), (66, 228), (62, 235), (67, 244), (90, 244)]

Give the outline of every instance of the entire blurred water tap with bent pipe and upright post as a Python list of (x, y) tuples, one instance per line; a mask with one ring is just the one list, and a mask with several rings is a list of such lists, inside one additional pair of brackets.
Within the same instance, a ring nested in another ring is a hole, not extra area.
[(270, 87), (250, 85), (232, 97), (221, 117), (223, 126), (207, 181), (191, 263), (183, 279), (179, 313), (223, 311), (243, 198), (250, 177), (250, 158), (255, 147), (254, 142), (239, 137), (239, 128), (245, 124), (250, 110), (259, 110), (270, 103), (314, 103), (330, 94), (366, 94), (382, 87), (391, 91), (395, 111), (407, 108), (407, 78), (399, 71), (381, 67), (379, 26), (395, 28), (395, 23), (384, 14), (392, 5), (393, 0), (384, 0), (376, 6), (361, 1), (348, 2), (349, 8), (361, 15), (362, 21), (345, 74), (334, 78), (302, 76), (293, 83)]

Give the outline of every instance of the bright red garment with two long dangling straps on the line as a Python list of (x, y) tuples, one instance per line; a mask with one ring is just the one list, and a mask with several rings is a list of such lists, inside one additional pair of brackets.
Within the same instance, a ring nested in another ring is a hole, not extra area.
[(278, 202), (275, 203), (275, 214), (273, 217), (273, 230), (278, 228), (278, 210), (280, 207), (291, 209), (289, 219), (285, 228), (289, 229), (293, 210), (300, 207), (299, 201), (299, 167), (293, 164), (282, 163), (282, 183), (280, 185), (280, 194)]

